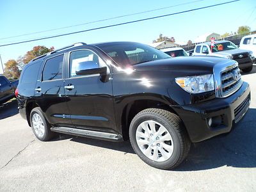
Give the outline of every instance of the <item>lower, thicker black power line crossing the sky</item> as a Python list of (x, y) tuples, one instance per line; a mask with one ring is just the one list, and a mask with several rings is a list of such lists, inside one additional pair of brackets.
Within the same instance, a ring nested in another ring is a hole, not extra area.
[(7, 46), (7, 45), (24, 44), (24, 43), (27, 43), (27, 42), (35, 42), (35, 41), (38, 41), (38, 40), (56, 38), (56, 37), (59, 37), (59, 36), (73, 35), (73, 34), (76, 34), (76, 33), (84, 33), (84, 32), (87, 32), (87, 31), (94, 31), (94, 30), (97, 30), (97, 29), (112, 28), (112, 27), (115, 27), (115, 26), (122, 26), (122, 25), (125, 25), (125, 24), (131, 24), (131, 23), (134, 23), (134, 22), (141, 22), (141, 21), (144, 21), (144, 20), (151, 20), (151, 19), (157, 19), (157, 18), (167, 17), (167, 16), (171, 16), (171, 15), (178, 15), (180, 13), (193, 12), (193, 11), (196, 11), (196, 10), (202, 10), (202, 9), (205, 9), (205, 8), (220, 6), (222, 4), (234, 3), (236, 1), (240, 1), (240, 0), (228, 1), (228, 2), (225, 2), (225, 3), (219, 3), (219, 4), (212, 4), (210, 6), (203, 6), (203, 7), (200, 7), (200, 8), (186, 10), (186, 11), (183, 11), (183, 12), (176, 12), (176, 13), (170, 13), (170, 14), (166, 14), (166, 15), (159, 15), (159, 16), (156, 16), (156, 17), (148, 17), (146, 19), (132, 20), (132, 21), (129, 21), (129, 22), (122, 22), (122, 23), (119, 23), (119, 24), (113, 24), (113, 25), (103, 26), (103, 27), (99, 27), (99, 28), (86, 29), (86, 30), (83, 30), (83, 31), (75, 31), (75, 32), (72, 32), (72, 33), (64, 33), (64, 34), (61, 34), (61, 35), (48, 36), (48, 37), (44, 37), (44, 38), (36, 38), (36, 39), (33, 39), (33, 40), (15, 42), (15, 43), (12, 43), (12, 44), (4, 44), (4, 45), (0, 45), (0, 47), (4, 47), (4, 46)]

